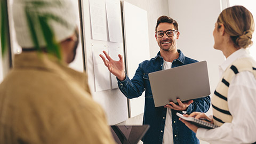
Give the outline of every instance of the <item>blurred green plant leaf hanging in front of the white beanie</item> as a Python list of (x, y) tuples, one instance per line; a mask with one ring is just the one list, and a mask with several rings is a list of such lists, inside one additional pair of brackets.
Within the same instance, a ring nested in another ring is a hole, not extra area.
[[(49, 21), (54, 20), (56, 22), (61, 23), (61, 25), (69, 28), (69, 23), (62, 19), (61, 17), (58, 17), (58, 15), (54, 15), (49, 12), (42, 12), (39, 11), (39, 9), (44, 7), (51, 7), (51, 6), (60, 6), (61, 3), (59, 1), (51, 1), (51, 2), (42, 2), (42, 1), (26, 1), (26, 15), (27, 15), (27, 21), (29, 25), (29, 30), (31, 34), (31, 38), (33, 40), (33, 43), (36, 47), (36, 50), (42, 51), (39, 41), (38, 41), (38, 33), (43, 34), (44, 41), (46, 43), (46, 51), (48, 53), (51, 53), (55, 55), (59, 60), (61, 59), (61, 53), (60, 53), (60, 45), (56, 41), (53, 30), (49, 26)], [(38, 27), (35, 28), (35, 25), (39, 24)]]

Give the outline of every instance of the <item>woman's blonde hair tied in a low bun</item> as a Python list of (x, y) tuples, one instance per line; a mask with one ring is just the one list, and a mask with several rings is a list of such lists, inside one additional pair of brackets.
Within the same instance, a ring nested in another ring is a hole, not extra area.
[(217, 20), (218, 26), (222, 23), (225, 33), (230, 35), (234, 46), (246, 48), (253, 44), (254, 20), (252, 13), (244, 6), (232, 6), (223, 10)]

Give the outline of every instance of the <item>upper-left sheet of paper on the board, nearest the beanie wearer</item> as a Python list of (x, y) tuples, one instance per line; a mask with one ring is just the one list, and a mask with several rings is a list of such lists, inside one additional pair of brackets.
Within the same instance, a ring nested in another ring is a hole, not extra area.
[(92, 39), (107, 40), (107, 20), (105, 1), (89, 0)]

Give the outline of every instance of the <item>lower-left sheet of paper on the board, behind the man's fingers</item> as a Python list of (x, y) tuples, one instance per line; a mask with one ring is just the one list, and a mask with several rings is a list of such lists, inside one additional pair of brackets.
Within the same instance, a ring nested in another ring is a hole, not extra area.
[(111, 89), (110, 72), (99, 56), (100, 54), (103, 54), (102, 51), (108, 52), (107, 45), (97, 43), (92, 44), (94, 83), (96, 92)]

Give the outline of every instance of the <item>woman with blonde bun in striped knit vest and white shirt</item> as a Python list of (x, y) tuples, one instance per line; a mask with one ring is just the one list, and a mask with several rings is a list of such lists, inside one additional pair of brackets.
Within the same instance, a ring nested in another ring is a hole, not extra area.
[(253, 16), (243, 6), (223, 10), (213, 31), (214, 49), (226, 57), (220, 82), (212, 96), (213, 118), (204, 113), (187, 117), (207, 118), (219, 127), (199, 128), (183, 119), (198, 139), (210, 143), (256, 143), (256, 62), (246, 52), (252, 45)]

